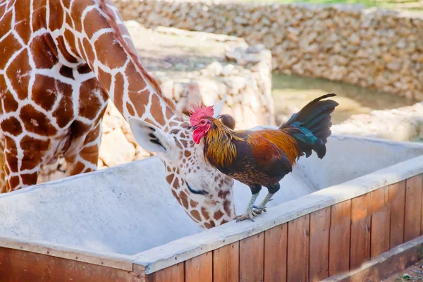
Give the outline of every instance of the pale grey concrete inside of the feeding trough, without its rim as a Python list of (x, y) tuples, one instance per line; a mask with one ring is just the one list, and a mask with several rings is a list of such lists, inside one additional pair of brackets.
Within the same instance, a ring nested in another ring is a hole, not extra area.
[[(319, 160), (313, 154), (300, 159), (267, 206), (276, 208), (420, 154), (419, 144), (331, 136), (326, 157)], [(264, 189), (257, 202), (265, 195)], [(250, 190), (236, 182), (237, 214), (250, 197)], [(125, 255), (201, 231), (168, 191), (158, 157), (0, 195), (0, 218), (0, 237)]]

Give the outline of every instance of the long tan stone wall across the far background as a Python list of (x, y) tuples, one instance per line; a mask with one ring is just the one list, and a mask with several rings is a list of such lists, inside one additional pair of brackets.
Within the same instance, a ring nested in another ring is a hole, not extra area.
[(114, 0), (123, 18), (242, 37), (274, 70), (423, 98), (423, 19), (360, 6)]

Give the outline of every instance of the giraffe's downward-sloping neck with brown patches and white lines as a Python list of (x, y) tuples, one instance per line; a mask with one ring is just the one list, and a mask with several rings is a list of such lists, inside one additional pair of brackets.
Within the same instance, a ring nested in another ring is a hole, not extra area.
[[(135, 47), (116, 8), (105, 0), (71, 1), (64, 6), (75, 37), (66, 37), (64, 52), (86, 62), (114, 105), (128, 121), (138, 117), (168, 130), (183, 121), (173, 103), (137, 58)], [(94, 24), (95, 23), (95, 24)], [(93, 27), (94, 25), (94, 27)], [(60, 46), (60, 45), (59, 45)]]

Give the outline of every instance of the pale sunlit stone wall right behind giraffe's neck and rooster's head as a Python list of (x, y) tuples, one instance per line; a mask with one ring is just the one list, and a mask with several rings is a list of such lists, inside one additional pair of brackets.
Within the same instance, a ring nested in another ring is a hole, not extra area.
[[(271, 53), (263, 45), (175, 28), (149, 30), (134, 21), (125, 25), (140, 61), (159, 80), (164, 95), (176, 102), (180, 115), (188, 118), (197, 103), (212, 105), (226, 97), (222, 113), (235, 118), (236, 129), (274, 125)], [(128, 123), (111, 102), (102, 129), (100, 169), (152, 156), (135, 142)], [(59, 159), (44, 166), (39, 183), (63, 176), (66, 162)]]

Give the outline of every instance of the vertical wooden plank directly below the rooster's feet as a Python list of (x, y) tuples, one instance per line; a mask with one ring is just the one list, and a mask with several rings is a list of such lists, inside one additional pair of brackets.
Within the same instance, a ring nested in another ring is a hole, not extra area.
[[(263, 281), (264, 233), (240, 240), (240, 281)], [(278, 262), (274, 262), (278, 263)]]

